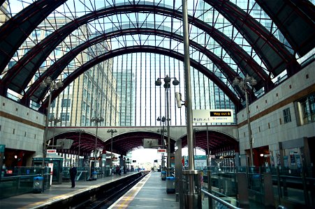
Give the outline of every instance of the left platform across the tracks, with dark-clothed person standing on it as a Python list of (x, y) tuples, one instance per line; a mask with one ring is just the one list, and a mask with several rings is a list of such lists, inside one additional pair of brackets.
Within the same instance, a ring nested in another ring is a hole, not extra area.
[(91, 181), (76, 181), (75, 188), (71, 188), (70, 181), (68, 183), (62, 183), (60, 185), (51, 185), (50, 189), (46, 189), (43, 193), (27, 193), (17, 196), (11, 196), (6, 199), (1, 199), (0, 208), (43, 208), (45, 206), (49, 206), (50, 203), (54, 201), (71, 198), (71, 196), (80, 194), (80, 192), (84, 192), (87, 189), (100, 187), (101, 185), (110, 183), (111, 181), (117, 180), (119, 178), (124, 178), (132, 174), (133, 173), (126, 173), (122, 174), (122, 176), (113, 175)]

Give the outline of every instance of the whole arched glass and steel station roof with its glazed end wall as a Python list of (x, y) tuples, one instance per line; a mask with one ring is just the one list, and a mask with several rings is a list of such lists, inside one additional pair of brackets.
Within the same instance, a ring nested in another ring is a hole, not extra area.
[[(193, 109), (238, 111), (235, 77), (257, 80), (254, 100), (298, 72), (315, 45), (314, 1), (300, 2), (279, 0), (279, 10), (265, 1), (188, 1)], [(49, 93), (39, 84), (50, 76), (65, 84), (50, 111), (63, 125), (98, 115), (103, 125), (159, 125), (166, 93), (154, 81), (169, 75), (180, 81), (170, 88), (171, 125), (185, 124), (174, 98), (184, 95), (181, 0), (10, 0), (1, 8), (1, 95), (45, 111)]]

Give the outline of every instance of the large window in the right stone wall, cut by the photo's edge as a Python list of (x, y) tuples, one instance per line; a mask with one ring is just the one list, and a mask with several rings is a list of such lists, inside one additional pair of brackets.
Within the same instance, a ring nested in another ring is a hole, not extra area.
[(315, 122), (315, 93), (298, 102), (300, 125)]

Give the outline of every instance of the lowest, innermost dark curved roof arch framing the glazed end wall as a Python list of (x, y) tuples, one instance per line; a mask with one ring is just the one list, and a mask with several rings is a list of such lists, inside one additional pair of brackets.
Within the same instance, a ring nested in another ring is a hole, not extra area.
[[(52, 93), (51, 93), (52, 94), (52, 100), (57, 98), (57, 96), (62, 91), (64, 91), (64, 88), (66, 88), (66, 86), (71, 84), (71, 82), (73, 82), (77, 77), (79, 77), (83, 72), (85, 72), (85, 70), (88, 70), (89, 68), (93, 67), (97, 63), (101, 63), (102, 61), (105, 61), (106, 59), (110, 59), (112, 57), (119, 56), (122, 54), (130, 54), (130, 53), (134, 53), (134, 52), (151, 52), (151, 53), (155, 53), (155, 54), (164, 54), (166, 56), (173, 57), (174, 59), (184, 61), (184, 55), (183, 54), (180, 54), (180, 53), (175, 52), (175, 51), (170, 51), (169, 49), (164, 49), (162, 47), (134, 46), (134, 47), (124, 47), (121, 49), (116, 49), (116, 50), (113, 50), (111, 52), (107, 52), (107, 53), (101, 54), (99, 56), (96, 56), (94, 59), (91, 59), (87, 63), (81, 65), (77, 70), (72, 72), (71, 75), (69, 75), (68, 77), (66, 77), (66, 79), (64, 79), (64, 81), (63, 81), (64, 86), (63, 87), (58, 88), (57, 91), (52, 91)], [(200, 63), (198, 63), (192, 59), (191, 59), (191, 66), (193, 68), (196, 68), (200, 72), (202, 72), (205, 76), (207, 76), (209, 79), (211, 79), (212, 82), (214, 82), (214, 84), (216, 84), (219, 88), (221, 88), (222, 91), (224, 91), (224, 93), (226, 93), (228, 98), (230, 98), (230, 100), (235, 104), (236, 108), (242, 107), (242, 104), (240, 103), (240, 100), (236, 97), (235, 93), (233, 93), (233, 91), (231, 91), (230, 88), (228, 88), (228, 86), (226, 86), (226, 84), (224, 84), (224, 82), (222, 82), (221, 79), (219, 79), (219, 77), (214, 75), (213, 72), (210, 72), (210, 70), (205, 68), (205, 66), (203, 66), (202, 64), (200, 64)], [(42, 111), (42, 112), (45, 111), (45, 109), (47, 109), (47, 104), (48, 104), (48, 101), (46, 98), (46, 100), (43, 102), (43, 104), (38, 109), (38, 111)]]

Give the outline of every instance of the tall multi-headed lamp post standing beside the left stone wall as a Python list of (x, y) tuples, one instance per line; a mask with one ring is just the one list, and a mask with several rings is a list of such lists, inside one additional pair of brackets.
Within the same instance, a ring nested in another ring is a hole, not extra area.
[(61, 81), (57, 82), (56, 80), (52, 81), (51, 77), (46, 77), (45, 79), (43, 79), (43, 82), (41, 82), (40, 87), (46, 88), (47, 86), (49, 86), (48, 88), (49, 97), (48, 97), (48, 106), (47, 106), (46, 121), (45, 121), (45, 131), (44, 131), (44, 137), (43, 137), (43, 161), (42, 161), (43, 169), (45, 167), (45, 157), (46, 157), (46, 152), (47, 152), (48, 122), (49, 122), (49, 114), (50, 114), (50, 103), (52, 102), (52, 91), (58, 90), (58, 88), (61, 88), (62, 86), (64, 86), (64, 83), (62, 83)]

